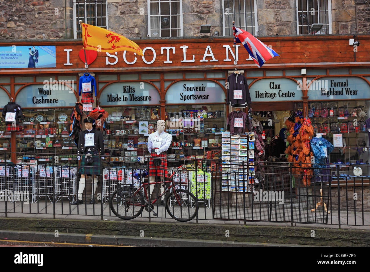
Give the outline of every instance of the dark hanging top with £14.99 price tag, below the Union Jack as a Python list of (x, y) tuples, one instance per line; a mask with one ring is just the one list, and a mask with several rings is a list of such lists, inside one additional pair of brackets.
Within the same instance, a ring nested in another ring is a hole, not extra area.
[(229, 88), (226, 95), (226, 104), (231, 107), (246, 108), (250, 103), (250, 94), (247, 79), (242, 74), (232, 73), (228, 76)]

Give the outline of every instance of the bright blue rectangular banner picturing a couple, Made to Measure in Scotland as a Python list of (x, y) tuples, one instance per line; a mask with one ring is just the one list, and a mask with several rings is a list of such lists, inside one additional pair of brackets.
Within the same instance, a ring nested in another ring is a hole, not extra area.
[(1, 46), (1, 68), (56, 67), (55, 46)]

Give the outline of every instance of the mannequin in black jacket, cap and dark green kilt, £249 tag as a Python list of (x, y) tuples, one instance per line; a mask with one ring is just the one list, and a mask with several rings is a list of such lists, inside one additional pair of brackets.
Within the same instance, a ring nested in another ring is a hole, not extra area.
[[(91, 175), (91, 200), (90, 204), (94, 204), (94, 194), (98, 185), (98, 178), (96, 176), (100, 175), (100, 155), (104, 154), (104, 143), (103, 135), (99, 130), (94, 130), (92, 128), (91, 117), (84, 119), (84, 124), (87, 130), (80, 132), (80, 137), (78, 138), (77, 146), (77, 159), (80, 160), (80, 170), (81, 174), (80, 184), (78, 186), (78, 199), (72, 203), (72, 205), (83, 204), (82, 195), (85, 189), (86, 176)], [(90, 155), (89, 155), (90, 154)], [(80, 157), (81, 155), (81, 157)], [(104, 159), (104, 157), (101, 157)]]

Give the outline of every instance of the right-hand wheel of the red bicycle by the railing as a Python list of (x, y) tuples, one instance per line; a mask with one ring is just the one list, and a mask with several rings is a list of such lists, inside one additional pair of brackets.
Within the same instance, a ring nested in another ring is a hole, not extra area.
[[(169, 193), (165, 200), (168, 214), (180, 222), (193, 219), (198, 213), (198, 200), (186, 190), (174, 190)], [(192, 203), (195, 203), (192, 207)]]

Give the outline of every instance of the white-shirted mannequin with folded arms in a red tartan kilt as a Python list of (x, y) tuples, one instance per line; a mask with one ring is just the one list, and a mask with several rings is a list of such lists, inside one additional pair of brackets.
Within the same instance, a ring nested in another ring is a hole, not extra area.
[[(164, 181), (164, 177), (168, 176), (166, 151), (171, 146), (172, 136), (164, 132), (165, 129), (166, 122), (164, 120), (158, 120), (157, 131), (149, 134), (148, 138), (148, 151), (150, 152), (149, 182), (155, 182), (157, 177), (159, 177), (159, 181)], [(159, 158), (160, 161), (159, 165), (155, 164), (155, 158)], [(152, 194), (153, 192), (154, 185), (155, 184), (149, 185), (150, 194)], [(161, 192), (164, 192), (163, 187), (161, 187)], [(164, 205), (163, 199), (161, 200), (161, 204)]]

